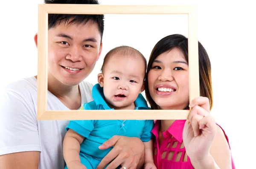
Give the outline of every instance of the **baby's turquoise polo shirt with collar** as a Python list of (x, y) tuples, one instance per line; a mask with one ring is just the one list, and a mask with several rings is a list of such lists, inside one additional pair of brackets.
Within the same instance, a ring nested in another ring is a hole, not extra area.
[[(94, 101), (84, 103), (81, 110), (113, 110), (104, 101), (103, 88), (99, 84), (93, 86), (92, 97)], [(149, 109), (142, 94), (139, 94), (134, 103), (135, 110)], [(98, 147), (113, 135), (137, 137), (147, 142), (154, 138), (151, 133), (153, 125), (153, 120), (73, 120), (66, 129), (72, 129), (85, 137), (81, 144), (80, 157), (86, 158), (89, 155), (101, 161), (112, 147), (106, 150), (100, 150)]]

